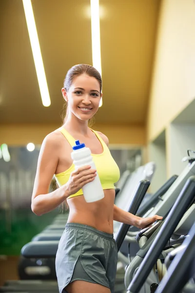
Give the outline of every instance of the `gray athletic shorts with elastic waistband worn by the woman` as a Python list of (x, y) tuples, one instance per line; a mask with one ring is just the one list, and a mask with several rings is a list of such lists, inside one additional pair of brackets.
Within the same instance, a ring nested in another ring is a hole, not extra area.
[(103, 285), (114, 293), (116, 272), (113, 234), (83, 224), (66, 224), (56, 254), (59, 293), (76, 280)]

